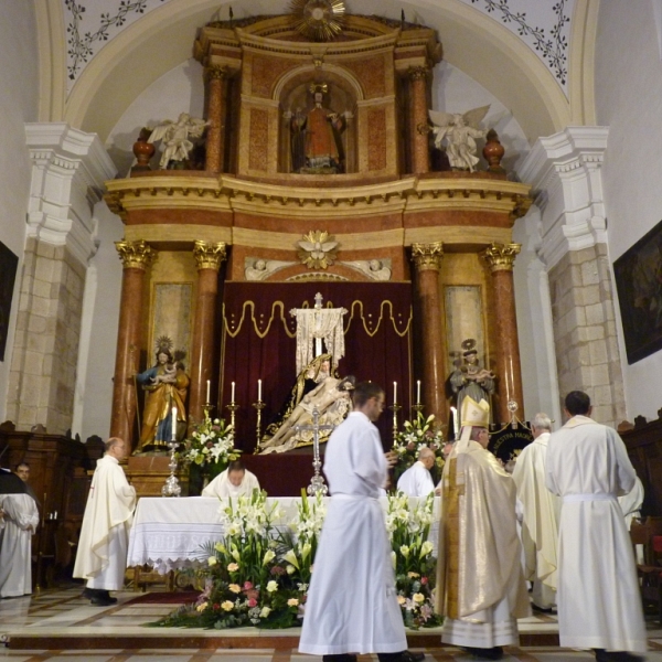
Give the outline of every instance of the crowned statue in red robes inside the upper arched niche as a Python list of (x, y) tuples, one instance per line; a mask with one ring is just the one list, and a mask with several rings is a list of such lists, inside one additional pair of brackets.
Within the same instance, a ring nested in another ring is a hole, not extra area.
[(337, 174), (343, 171), (343, 152), (340, 134), (344, 130), (344, 117), (322, 106), (325, 83), (312, 83), (309, 92), (313, 107), (303, 113), (300, 108), (292, 114), (291, 150), (292, 171), (301, 174)]

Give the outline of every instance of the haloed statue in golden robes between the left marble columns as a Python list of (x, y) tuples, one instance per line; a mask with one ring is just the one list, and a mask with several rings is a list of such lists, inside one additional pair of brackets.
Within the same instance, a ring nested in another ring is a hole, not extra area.
[[(184, 402), (190, 380), (181, 362), (173, 359), (171, 348), (170, 339), (160, 338), (157, 343), (157, 363), (136, 375), (136, 381), (146, 392), (140, 442), (136, 452), (168, 449), (168, 442), (173, 438), (173, 407), (177, 407), (178, 423), (186, 423)], [(174, 431), (177, 435), (178, 430)]]

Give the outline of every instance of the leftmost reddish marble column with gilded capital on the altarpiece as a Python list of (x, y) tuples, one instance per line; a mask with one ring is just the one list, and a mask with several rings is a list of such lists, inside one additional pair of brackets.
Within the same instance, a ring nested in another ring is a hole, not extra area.
[(136, 381), (140, 360), (140, 327), (143, 310), (145, 273), (156, 257), (143, 241), (115, 242), (124, 264), (115, 376), (113, 377), (113, 412), (110, 436), (120, 437), (134, 448), (136, 419)]

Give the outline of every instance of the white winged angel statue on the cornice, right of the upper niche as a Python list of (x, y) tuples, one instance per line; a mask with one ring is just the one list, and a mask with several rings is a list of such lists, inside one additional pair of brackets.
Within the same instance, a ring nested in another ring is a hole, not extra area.
[(476, 138), (484, 138), (487, 135), (487, 131), (478, 127), (489, 109), (490, 106), (481, 106), (465, 114), (428, 110), (434, 125), (435, 147), (442, 149), (441, 141), (446, 138), (446, 153), (453, 170), (474, 171), (479, 160), (476, 156)]

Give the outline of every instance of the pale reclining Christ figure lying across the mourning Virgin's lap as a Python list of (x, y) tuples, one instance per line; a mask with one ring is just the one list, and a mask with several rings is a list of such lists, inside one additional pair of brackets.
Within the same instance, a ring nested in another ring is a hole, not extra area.
[[(270, 452), (285, 452), (299, 445), (305, 445), (310, 434), (300, 433), (297, 426), (309, 426), (313, 421), (313, 409), (320, 414), (320, 425), (339, 425), (344, 420), (351, 408), (350, 392), (354, 387), (353, 376), (339, 380), (329, 374), (318, 386), (301, 398), (292, 413), (282, 423), (278, 431), (260, 445), (261, 455)], [(328, 435), (325, 435), (328, 437)]]

